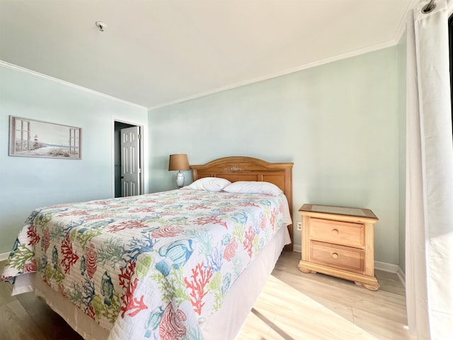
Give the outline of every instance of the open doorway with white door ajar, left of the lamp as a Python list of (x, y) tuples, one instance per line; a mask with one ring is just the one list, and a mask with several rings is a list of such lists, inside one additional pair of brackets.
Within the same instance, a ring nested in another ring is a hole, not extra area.
[(141, 195), (143, 191), (143, 127), (114, 122), (115, 197)]

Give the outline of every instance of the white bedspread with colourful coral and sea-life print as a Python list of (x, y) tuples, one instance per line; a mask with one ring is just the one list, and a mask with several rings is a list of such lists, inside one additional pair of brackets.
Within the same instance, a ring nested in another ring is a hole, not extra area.
[(183, 188), (40, 208), (2, 280), (38, 272), (109, 339), (202, 339), (205, 319), (277, 229), (285, 196)]

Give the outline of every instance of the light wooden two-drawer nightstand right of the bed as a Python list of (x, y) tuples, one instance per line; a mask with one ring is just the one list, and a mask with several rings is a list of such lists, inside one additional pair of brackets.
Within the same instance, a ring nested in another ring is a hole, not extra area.
[(369, 209), (304, 204), (302, 260), (304, 273), (319, 272), (377, 290), (374, 277), (374, 223)]

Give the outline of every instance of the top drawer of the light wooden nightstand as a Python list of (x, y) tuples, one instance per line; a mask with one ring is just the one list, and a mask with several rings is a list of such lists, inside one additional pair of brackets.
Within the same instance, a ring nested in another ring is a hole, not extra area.
[(365, 227), (362, 223), (340, 222), (311, 217), (309, 237), (318, 241), (343, 246), (365, 246)]

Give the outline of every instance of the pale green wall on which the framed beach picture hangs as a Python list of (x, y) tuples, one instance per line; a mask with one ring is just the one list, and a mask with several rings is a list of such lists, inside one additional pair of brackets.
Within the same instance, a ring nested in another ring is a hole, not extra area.
[[(8, 157), (9, 115), (82, 128), (82, 159)], [(34, 208), (113, 197), (113, 120), (148, 128), (146, 108), (0, 65), (0, 254)]]

